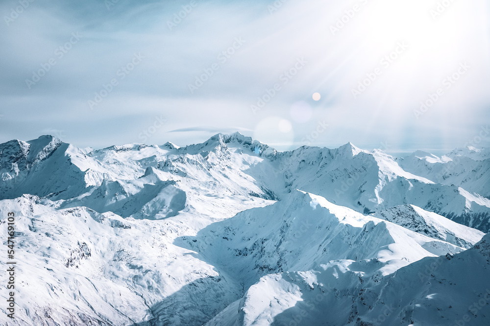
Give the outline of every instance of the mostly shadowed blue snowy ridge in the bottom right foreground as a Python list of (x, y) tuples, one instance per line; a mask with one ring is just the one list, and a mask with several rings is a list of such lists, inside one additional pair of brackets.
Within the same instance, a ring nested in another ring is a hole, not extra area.
[(486, 326), (490, 236), (456, 255), (427, 257), (380, 277), (376, 260), (264, 276), (206, 326)]

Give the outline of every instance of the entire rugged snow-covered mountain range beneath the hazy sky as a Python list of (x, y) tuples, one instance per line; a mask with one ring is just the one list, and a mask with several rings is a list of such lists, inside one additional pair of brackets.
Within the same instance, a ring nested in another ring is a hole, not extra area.
[(0, 232), (15, 212), (20, 262), (16, 319), (0, 321), (452, 325), (486, 298), (488, 152), (278, 152), (239, 133), (181, 148), (0, 144)]

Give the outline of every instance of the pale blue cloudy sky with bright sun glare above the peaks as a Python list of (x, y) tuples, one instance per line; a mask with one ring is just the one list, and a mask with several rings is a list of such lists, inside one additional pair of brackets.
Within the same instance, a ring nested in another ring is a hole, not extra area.
[(0, 142), (490, 147), (488, 1), (81, 2), (1, 1)]

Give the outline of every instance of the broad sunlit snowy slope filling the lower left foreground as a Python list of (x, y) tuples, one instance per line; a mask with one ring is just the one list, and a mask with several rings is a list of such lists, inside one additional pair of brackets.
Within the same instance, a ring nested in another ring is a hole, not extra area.
[[(228, 209), (234, 214), (265, 203), (242, 199)], [(32, 196), (0, 201), (2, 217), (17, 213), (16, 259), (22, 262), (17, 265), (16, 320), (9, 326), (41, 321), (149, 326), (155, 319), (202, 325), (242, 293), (226, 273), (173, 245), (177, 237), (195, 235), (209, 218), (184, 213), (179, 219), (134, 220), (48, 204)], [(0, 266), (7, 268), (4, 261)], [(0, 306), (2, 323), (4, 309)]]

